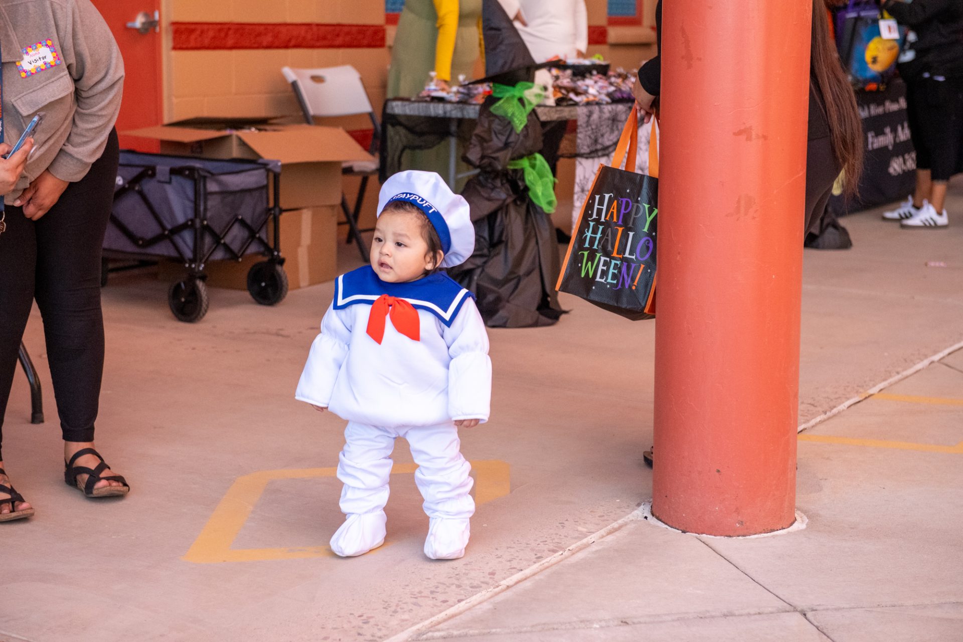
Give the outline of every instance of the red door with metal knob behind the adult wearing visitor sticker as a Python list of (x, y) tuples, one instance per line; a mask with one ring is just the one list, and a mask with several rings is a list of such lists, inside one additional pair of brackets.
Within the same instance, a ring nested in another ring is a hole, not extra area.
[[(123, 55), (123, 102), (117, 117), (117, 132), (160, 125), (164, 121), (164, 92), (161, 81), (161, 34), (153, 23), (160, 0), (92, 0), (111, 31)], [(142, 14), (143, 12), (143, 14)], [(140, 15), (140, 18), (139, 18)], [(128, 26), (137, 23), (135, 26)], [(120, 136), (120, 147), (153, 151), (160, 142)]]

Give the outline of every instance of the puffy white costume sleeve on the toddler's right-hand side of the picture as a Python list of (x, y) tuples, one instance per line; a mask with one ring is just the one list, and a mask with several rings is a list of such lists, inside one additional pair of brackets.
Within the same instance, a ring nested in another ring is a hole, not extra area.
[(445, 343), (452, 363), (448, 367), (448, 410), (455, 422), (488, 421), (491, 406), (491, 359), (488, 334), (475, 301), (469, 299), (445, 328)]

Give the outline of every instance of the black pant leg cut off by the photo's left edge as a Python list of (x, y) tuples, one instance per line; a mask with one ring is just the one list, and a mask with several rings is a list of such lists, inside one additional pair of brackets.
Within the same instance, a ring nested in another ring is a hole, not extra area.
[(17, 370), (16, 355), (34, 304), (34, 269), (37, 265), (34, 222), (25, 218), (20, 208), (8, 206), (6, 223), (7, 231), (0, 234), (0, 446), (7, 402)]

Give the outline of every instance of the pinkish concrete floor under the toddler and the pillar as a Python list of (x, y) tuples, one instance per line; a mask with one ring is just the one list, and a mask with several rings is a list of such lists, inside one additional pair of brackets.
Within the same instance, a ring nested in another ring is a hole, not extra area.
[[(961, 187), (952, 213), (963, 212)], [(963, 340), (963, 218), (950, 219), (946, 230), (906, 231), (866, 213), (846, 218), (853, 249), (807, 251), (800, 423)], [(332, 556), (343, 423), (293, 398), (331, 293), (325, 284), (264, 308), (212, 291), (207, 318), (188, 325), (170, 316), (165, 285), (114, 278), (97, 443), (133, 486), (121, 501), (88, 501), (63, 483), (32, 320), (26, 343), (48, 423), (28, 423), (18, 377), (6, 463), (38, 512), (0, 525), (0, 640), (383, 640), (651, 497), (641, 452), (652, 438), (655, 326), (635, 324), (638, 348), (612, 353), (608, 337), (629, 321), (564, 296), (572, 314), (558, 325), (490, 333), (492, 421), (463, 434), (480, 502), (468, 555), (423, 556), (428, 521), (400, 442), (386, 546)], [(631, 388), (603, 385), (612, 367)], [(963, 441), (952, 401), (963, 398), (963, 356), (884, 392), (892, 398), (804, 433), (829, 438), (800, 444), (805, 530), (702, 540), (631, 522), (417, 636), (963, 639), (963, 453), (913, 446)]]

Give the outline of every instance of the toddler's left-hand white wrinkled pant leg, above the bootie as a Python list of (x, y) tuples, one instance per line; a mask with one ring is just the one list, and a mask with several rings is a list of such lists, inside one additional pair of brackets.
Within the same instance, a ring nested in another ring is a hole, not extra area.
[(388, 502), (391, 451), (395, 434), (373, 425), (350, 422), (345, 428), (345, 448), (338, 457), (341, 512), (346, 515), (380, 511)]

